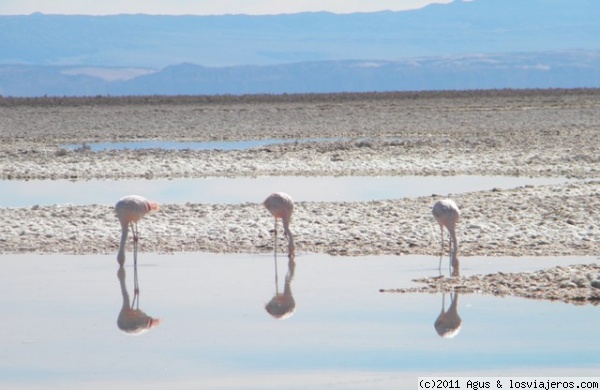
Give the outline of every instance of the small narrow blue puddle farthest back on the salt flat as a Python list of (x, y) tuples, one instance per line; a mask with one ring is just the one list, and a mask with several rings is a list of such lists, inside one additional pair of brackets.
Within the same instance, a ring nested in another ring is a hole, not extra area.
[(92, 152), (103, 150), (123, 150), (123, 149), (168, 149), (168, 150), (245, 150), (259, 146), (274, 144), (286, 144), (295, 142), (326, 142), (339, 141), (341, 138), (303, 138), (303, 139), (262, 139), (246, 141), (132, 141), (132, 142), (97, 142), (85, 144), (61, 145), (61, 147), (70, 150), (89, 148)]

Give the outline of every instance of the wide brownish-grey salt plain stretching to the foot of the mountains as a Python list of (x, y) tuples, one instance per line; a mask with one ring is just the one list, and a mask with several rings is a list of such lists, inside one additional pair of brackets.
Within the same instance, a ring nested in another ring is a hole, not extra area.
[[(214, 100), (214, 101), (213, 101)], [(600, 177), (600, 90), (0, 99), (0, 178)], [(327, 140), (91, 152), (94, 142)], [(70, 150), (67, 144), (81, 144)]]

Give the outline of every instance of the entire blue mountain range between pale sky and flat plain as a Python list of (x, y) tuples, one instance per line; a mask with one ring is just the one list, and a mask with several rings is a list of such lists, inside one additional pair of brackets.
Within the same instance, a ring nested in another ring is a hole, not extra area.
[(600, 1), (404, 12), (0, 16), (0, 94), (600, 87)]

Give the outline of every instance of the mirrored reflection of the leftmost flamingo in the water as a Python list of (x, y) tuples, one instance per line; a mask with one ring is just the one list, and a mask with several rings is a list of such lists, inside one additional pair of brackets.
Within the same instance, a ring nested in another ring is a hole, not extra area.
[(121, 286), (121, 295), (123, 296), (123, 306), (117, 318), (117, 326), (123, 332), (130, 335), (140, 335), (146, 333), (149, 329), (158, 326), (160, 319), (152, 318), (140, 310), (140, 288), (137, 277), (137, 262), (133, 267), (133, 300), (129, 300), (129, 292), (125, 283), (125, 269), (119, 267), (117, 272), (119, 284)]

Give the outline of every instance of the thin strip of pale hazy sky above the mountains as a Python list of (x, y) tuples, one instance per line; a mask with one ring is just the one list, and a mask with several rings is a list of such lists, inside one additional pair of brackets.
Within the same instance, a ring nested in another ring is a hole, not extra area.
[(281, 14), (401, 11), (452, 0), (0, 0), (0, 15), (45, 14)]

